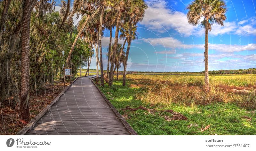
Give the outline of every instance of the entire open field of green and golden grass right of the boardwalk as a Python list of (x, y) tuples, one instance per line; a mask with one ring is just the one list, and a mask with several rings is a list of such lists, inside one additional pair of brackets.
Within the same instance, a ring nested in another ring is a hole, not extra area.
[[(255, 75), (210, 75), (208, 94), (204, 75), (126, 79), (125, 87), (120, 76), (113, 87), (100, 89), (140, 135), (256, 135)], [(175, 119), (177, 114), (187, 120)]]

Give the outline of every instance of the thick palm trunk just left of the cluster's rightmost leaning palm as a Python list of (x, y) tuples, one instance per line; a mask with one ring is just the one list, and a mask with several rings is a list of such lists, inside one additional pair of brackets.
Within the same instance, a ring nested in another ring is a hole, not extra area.
[[(117, 44), (118, 44), (118, 33), (119, 33), (120, 17), (121, 17), (121, 12), (119, 11), (118, 18), (116, 20), (115, 43), (114, 43), (114, 47), (113, 47), (112, 55), (111, 55), (114, 58), (116, 56), (116, 48), (117, 48)], [(115, 64), (115, 59), (112, 59), (111, 60), (111, 65), (110, 65), (110, 75), (109, 75), (109, 78), (108, 78), (108, 85), (109, 86), (111, 86), (112, 82), (113, 82), (114, 64)]]

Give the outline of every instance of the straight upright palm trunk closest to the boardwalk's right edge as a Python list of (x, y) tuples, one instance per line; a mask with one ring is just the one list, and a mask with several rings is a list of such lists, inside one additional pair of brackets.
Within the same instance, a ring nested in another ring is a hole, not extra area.
[(100, 13), (100, 37), (99, 37), (99, 43), (100, 43), (100, 75), (101, 75), (100, 82), (101, 82), (102, 87), (104, 87), (104, 71), (103, 71), (102, 48), (101, 48), (103, 15), (104, 15), (104, 8), (101, 9), (101, 13)]

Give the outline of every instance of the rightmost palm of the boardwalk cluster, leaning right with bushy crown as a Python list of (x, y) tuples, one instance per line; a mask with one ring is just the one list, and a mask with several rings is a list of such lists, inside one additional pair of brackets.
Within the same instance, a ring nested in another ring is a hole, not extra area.
[(130, 51), (131, 42), (132, 42), (132, 28), (136, 26), (136, 24), (139, 21), (142, 21), (145, 14), (145, 10), (148, 8), (144, 0), (131, 0), (127, 5), (128, 5), (127, 14), (129, 14), (129, 18), (127, 19), (129, 19), (130, 29), (129, 29), (128, 45), (127, 45), (125, 61), (124, 61), (123, 86), (125, 86), (126, 66), (127, 66), (129, 51)]

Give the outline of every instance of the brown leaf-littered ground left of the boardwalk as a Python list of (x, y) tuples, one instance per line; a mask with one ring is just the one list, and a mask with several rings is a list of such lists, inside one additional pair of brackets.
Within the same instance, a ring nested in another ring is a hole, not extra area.
[[(54, 85), (45, 84), (44, 87), (30, 92), (29, 110), (31, 119), (50, 104), (64, 90), (63, 83), (55, 81)], [(19, 113), (13, 105), (13, 96), (6, 99), (5, 104), (1, 104), (0, 110), (0, 135), (16, 135), (26, 122), (19, 118)]]

